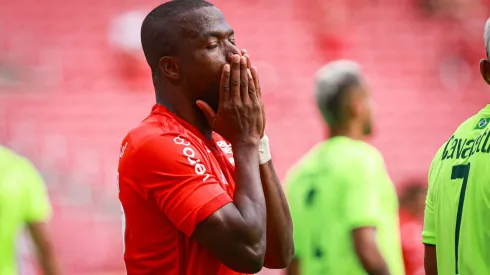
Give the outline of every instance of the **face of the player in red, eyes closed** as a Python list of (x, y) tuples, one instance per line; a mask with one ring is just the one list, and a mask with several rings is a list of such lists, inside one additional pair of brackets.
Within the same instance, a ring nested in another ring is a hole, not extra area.
[(235, 46), (233, 29), (217, 8), (195, 11), (192, 21), (189, 51), (181, 57), (181, 73), (193, 91), (193, 99), (204, 100), (217, 111), (223, 65), (231, 63), (231, 56), (240, 51)]

